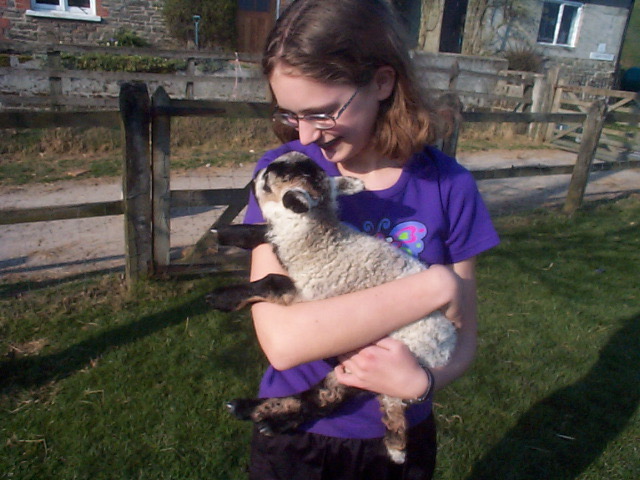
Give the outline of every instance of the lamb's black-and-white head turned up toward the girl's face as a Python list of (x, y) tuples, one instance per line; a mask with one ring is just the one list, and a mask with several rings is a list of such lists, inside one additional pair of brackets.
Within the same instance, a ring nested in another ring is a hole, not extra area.
[(338, 195), (364, 190), (352, 177), (330, 177), (313, 160), (300, 152), (289, 152), (260, 170), (254, 194), (265, 218), (273, 215), (307, 214), (314, 210), (335, 211)]

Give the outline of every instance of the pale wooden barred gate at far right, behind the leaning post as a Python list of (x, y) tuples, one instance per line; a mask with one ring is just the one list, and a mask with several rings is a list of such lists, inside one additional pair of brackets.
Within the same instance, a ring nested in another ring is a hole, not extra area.
[[(600, 137), (596, 159), (623, 162), (630, 158), (640, 158), (638, 93), (560, 84), (556, 88), (552, 111), (586, 113), (596, 100), (606, 102), (608, 117), (606, 128)], [(560, 148), (577, 152), (582, 135), (582, 124), (552, 123), (549, 124), (546, 140)]]

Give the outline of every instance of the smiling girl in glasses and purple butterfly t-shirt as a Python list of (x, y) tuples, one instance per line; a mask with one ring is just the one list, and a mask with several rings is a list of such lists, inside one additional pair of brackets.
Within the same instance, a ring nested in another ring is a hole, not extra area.
[[(434, 384), (462, 375), (476, 350), (475, 256), (498, 237), (475, 183), (455, 160), (427, 147), (438, 117), (414, 81), (408, 49), (385, 0), (297, 0), (277, 21), (263, 57), (286, 143), (258, 163), (297, 150), (330, 175), (364, 181), (340, 201), (341, 218), (417, 255), (428, 270), (353, 294), (252, 309), (271, 366), (261, 396), (307, 390), (336, 369), (341, 382), (404, 398), (408, 456), (393, 464), (373, 395), (328, 418), (267, 437), (254, 432), (251, 479), (429, 479), (435, 466)], [(247, 223), (263, 218), (251, 199)], [(251, 280), (286, 274), (270, 246), (254, 249)], [(452, 360), (425, 371), (393, 330), (443, 309), (459, 330)]]

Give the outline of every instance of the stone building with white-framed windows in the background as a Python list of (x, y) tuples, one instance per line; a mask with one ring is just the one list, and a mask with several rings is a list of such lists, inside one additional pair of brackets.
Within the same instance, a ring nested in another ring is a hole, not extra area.
[[(238, 0), (238, 51), (257, 53), (293, 0)], [(633, 0), (389, 0), (418, 51), (505, 56), (531, 51), (571, 83), (613, 83)], [(162, 0), (0, 0), (0, 42), (97, 45), (120, 29), (151, 45), (168, 34)]]

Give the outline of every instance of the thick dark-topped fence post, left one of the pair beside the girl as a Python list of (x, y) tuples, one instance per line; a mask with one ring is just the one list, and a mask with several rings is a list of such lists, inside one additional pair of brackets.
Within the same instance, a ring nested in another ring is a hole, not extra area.
[(124, 127), (125, 274), (129, 287), (148, 277), (151, 256), (151, 164), (147, 86), (127, 82), (120, 87), (120, 116)]

